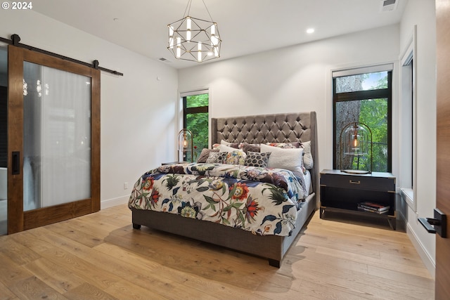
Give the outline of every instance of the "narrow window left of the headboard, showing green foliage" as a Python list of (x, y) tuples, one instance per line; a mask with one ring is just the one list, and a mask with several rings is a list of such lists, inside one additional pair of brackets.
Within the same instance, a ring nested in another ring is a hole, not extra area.
[[(203, 148), (208, 148), (208, 105), (210, 94), (201, 91), (183, 97), (183, 126), (192, 132), (194, 146), (194, 161)], [(186, 160), (191, 161), (191, 153), (188, 153)]]

